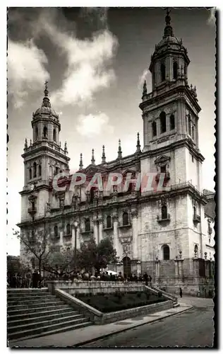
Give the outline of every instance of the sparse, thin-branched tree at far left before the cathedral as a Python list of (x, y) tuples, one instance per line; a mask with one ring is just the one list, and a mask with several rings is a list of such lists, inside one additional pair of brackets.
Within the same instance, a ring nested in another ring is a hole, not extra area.
[(26, 254), (32, 254), (38, 263), (38, 269), (41, 274), (42, 267), (44, 262), (47, 261), (49, 254), (52, 252), (52, 249), (49, 247), (49, 233), (47, 229), (37, 230), (36, 232), (32, 230), (30, 233), (20, 233), (13, 229), (13, 234), (20, 239), (23, 243), (24, 251)]

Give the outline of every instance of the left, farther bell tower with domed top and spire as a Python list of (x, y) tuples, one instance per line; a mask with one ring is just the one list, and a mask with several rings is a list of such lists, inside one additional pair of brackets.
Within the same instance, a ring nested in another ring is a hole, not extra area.
[(49, 202), (49, 185), (54, 176), (64, 170), (69, 171), (66, 142), (64, 149), (59, 142), (61, 125), (59, 115), (49, 101), (49, 91), (45, 82), (42, 105), (32, 113), (32, 139), (30, 145), (25, 139), (23, 157), (24, 187), (22, 196), (22, 220), (32, 221), (44, 217)]

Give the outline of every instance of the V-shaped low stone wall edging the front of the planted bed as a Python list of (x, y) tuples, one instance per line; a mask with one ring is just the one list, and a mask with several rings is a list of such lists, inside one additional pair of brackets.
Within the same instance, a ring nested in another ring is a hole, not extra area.
[(171, 307), (173, 307), (173, 302), (169, 300), (159, 302), (158, 304), (150, 304), (142, 307), (135, 307), (133, 309), (125, 309), (104, 314), (94, 307), (85, 304), (85, 302), (80, 301), (80, 299), (67, 294), (64, 290), (56, 289), (55, 295), (56, 297), (59, 297), (64, 302), (66, 302), (66, 304), (70, 304), (74, 309), (77, 309), (81, 314), (84, 314), (84, 316), (88, 317), (88, 319), (90, 319), (90, 321), (92, 321), (94, 324), (109, 324), (111, 322), (120, 321), (122, 319), (140, 316), (141, 314), (152, 314), (154, 312), (171, 309)]

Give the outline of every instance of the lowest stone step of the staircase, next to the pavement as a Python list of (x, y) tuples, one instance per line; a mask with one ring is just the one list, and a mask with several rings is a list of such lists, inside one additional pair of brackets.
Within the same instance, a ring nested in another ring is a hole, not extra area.
[[(86, 321), (83, 322), (82, 324), (76, 324), (75, 326), (66, 326), (66, 327), (61, 327), (60, 329), (49, 329), (49, 331), (44, 331), (44, 333), (37, 333), (37, 334), (32, 334), (32, 335), (28, 335), (24, 332), (20, 332), (20, 336), (16, 337), (13, 341), (13, 339), (9, 340), (9, 343), (11, 346), (16, 346), (16, 341), (18, 341), (18, 338), (21, 341), (27, 340), (27, 339), (31, 339), (31, 338), (38, 338), (38, 337), (43, 337), (43, 336), (50, 336), (51, 334), (56, 334), (56, 333), (62, 333), (62, 332), (67, 332), (67, 331), (73, 331), (74, 329), (80, 329), (80, 328), (84, 328), (87, 326), (91, 326), (92, 322), (90, 321)], [(15, 344), (13, 344), (15, 343)]]

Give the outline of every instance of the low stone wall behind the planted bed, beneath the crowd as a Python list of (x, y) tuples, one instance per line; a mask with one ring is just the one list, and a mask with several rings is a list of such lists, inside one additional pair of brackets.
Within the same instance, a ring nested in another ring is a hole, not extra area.
[(144, 290), (143, 282), (102, 282), (102, 281), (74, 281), (71, 280), (49, 280), (48, 290), (54, 294), (56, 289), (66, 291), (70, 295), (78, 293), (96, 295), (100, 292), (111, 294), (119, 290), (121, 292), (140, 292)]

